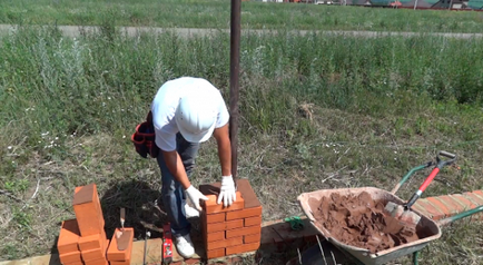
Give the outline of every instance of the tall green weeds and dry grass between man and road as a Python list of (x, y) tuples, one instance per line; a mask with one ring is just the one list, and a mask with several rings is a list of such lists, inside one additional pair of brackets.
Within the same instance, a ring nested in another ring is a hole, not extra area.
[[(228, 99), (228, 55), (227, 35), (127, 38), (109, 23), (77, 39), (31, 27), (2, 38), (0, 258), (56, 252), (60, 222), (75, 216), (73, 188), (89, 183), (98, 186), (108, 233), (119, 207), (137, 238), (145, 223), (161, 224), (159, 169), (138, 157), (129, 137), (168, 79), (204, 77)], [(445, 168), (425, 196), (482, 189), (477, 58), (482, 39), (245, 36), (238, 174), (250, 179), (264, 219), (302, 214), (296, 197), (304, 192), (391, 189), (441, 149), (457, 154), (461, 169)], [(197, 164), (196, 185), (219, 179), (213, 140)], [(482, 225), (446, 228), (421, 264), (476, 264)]]

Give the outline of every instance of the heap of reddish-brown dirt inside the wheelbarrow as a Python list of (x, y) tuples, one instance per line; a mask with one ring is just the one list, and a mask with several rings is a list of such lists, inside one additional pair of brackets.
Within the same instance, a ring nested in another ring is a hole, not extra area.
[(365, 192), (358, 196), (332, 194), (308, 203), (318, 225), (335, 239), (371, 253), (420, 239), (415, 225), (402, 225)]

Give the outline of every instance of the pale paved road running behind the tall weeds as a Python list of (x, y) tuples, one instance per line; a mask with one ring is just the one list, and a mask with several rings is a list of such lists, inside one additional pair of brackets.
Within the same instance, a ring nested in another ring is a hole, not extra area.
[[(8, 35), (12, 30), (14, 30), (16, 26), (11, 24), (0, 24), (0, 36)], [(59, 26), (59, 30), (67, 37), (78, 37), (80, 32), (87, 31), (92, 32), (99, 30), (97, 27), (90, 26)], [(177, 32), (180, 37), (194, 37), (194, 36), (209, 36), (216, 32), (229, 33), (229, 29), (190, 29), (190, 28), (150, 28), (150, 27), (121, 27), (120, 30), (126, 32), (128, 36), (137, 36), (140, 32), (151, 32), (151, 33), (164, 33), (164, 32)], [(263, 35), (266, 32), (270, 32), (269, 30), (241, 30), (243, 33), (257, 33)], [(307, 35), (309, 32), (314, 32), (310, 30), (298, 30), (296, 31), (300, 35)], [(482, 38), (483, 33), (420, 33), (420, 32), (388, 32), (388, 31), (344, 31), (344, 30), (335, 30), (335, 31), (315, 31), (317, 33), (324, 35), (344, 35), (344, 36), (355, 36), (355, 37), (366, 37), (366, 38), (375, 38), (375, 37), (385, 37), (385, 36), (440, 36), (446, 38), (457, 38), (457, 39), (471, 39), (471, 38)]]

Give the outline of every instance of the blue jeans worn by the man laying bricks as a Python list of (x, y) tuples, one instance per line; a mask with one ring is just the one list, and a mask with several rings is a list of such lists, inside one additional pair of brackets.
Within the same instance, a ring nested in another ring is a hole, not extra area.
[[(181, 134), (176, 135), (176, 150), (181, 157), (183, 165), (185, 166), (188, 178), (195, 167), (195, 158), (198, 155), (199, 144), (187, 141)], [(160, 151), (158, 157), (158, 165), (161, 169), (161, 199), (165, 205), (168, 219), (171, 225), (171, 233), (174, 236), (184, 236), (189, 234), (191, 225), (186, 219), (185, 215), (185, 190), (181, 184), (175, 179), (166, 166), (165, 158)]]

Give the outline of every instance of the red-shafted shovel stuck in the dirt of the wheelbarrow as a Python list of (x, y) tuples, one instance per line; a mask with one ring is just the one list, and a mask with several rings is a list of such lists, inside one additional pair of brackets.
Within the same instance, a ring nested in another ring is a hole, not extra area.
[[(441, 159), (441, 157), (446, 157), (448, 159)], [(444, 166), (448, 166), (453, 164), (456, 160), (456, 155), (453, 155), (447, 151), (438, 151), (436, 156), (436, 166), (434, 167), (433, 171), (431, 171), (430, 176), (424, 180), (424, 183), (420, 186), (416, 193), (413, 194), (411, 199), (404, 204), (398, 205), (395, 203), (390, 202), (385, 210), (390, 213), (391, 216), (393, 216), (396, 219), (402, 220), (403, 223), (411, 224), (411, 225), (417, 225), (421, 220), (421, 216), (418, 216), (416, 213), (411, 210), (411, 207), (416, 203), (416, 200), (421, 197), (423, 192), (430, 186), (431, 181), (433, 181), (434, 177), (440, 173), (441, 168)]]

